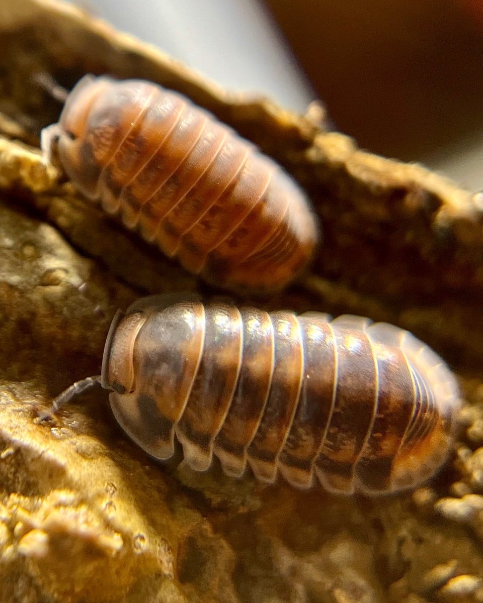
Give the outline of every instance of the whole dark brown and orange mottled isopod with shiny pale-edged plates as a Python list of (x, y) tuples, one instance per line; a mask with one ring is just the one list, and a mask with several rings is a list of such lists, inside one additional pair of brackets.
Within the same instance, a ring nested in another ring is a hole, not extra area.
[(368, 495), (412, 488), (446, 459), (456, 379), (406, 330), (368, 318), (148, 297), (118, 312), (96, 382), (129, 436), (158, 459), (174, 435), (195, 470), (251, 467), (293, 486)]

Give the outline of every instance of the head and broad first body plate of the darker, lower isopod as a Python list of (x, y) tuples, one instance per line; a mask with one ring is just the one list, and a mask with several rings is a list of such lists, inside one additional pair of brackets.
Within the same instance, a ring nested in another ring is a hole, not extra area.
[[(129, 437), (158, 459), (174, 453), (177, 413), (191, 387), (185, 368), (200, 360), (202, 318), (193, 304), (203, 306), (196, 294), (181, 297), (153, 295), (118, 312), (104, 346), (100, 383), (111, 390), (112, 412)], [(165, 345), (158, 345), (159, 337)], [(151, 396), (140, 391), (147, 383)]]

